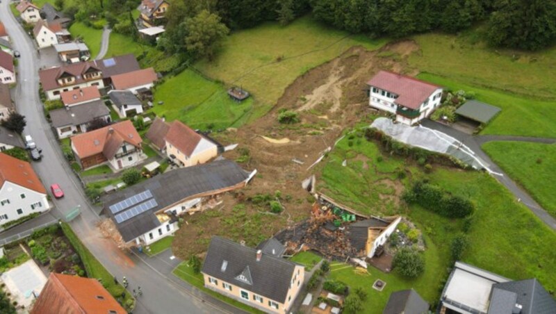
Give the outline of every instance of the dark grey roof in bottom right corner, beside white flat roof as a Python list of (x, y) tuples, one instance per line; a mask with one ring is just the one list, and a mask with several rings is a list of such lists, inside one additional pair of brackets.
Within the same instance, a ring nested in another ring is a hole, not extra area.
[[(508, 292), (515, 292), (517, 295), (516, 303), (523, 306), (521, 314), (556, 313), (555, 299), (550, 296), (537, 279), (495, 283), (492, 287)], [(491, 313), (490, 308), (489, 313)]]

